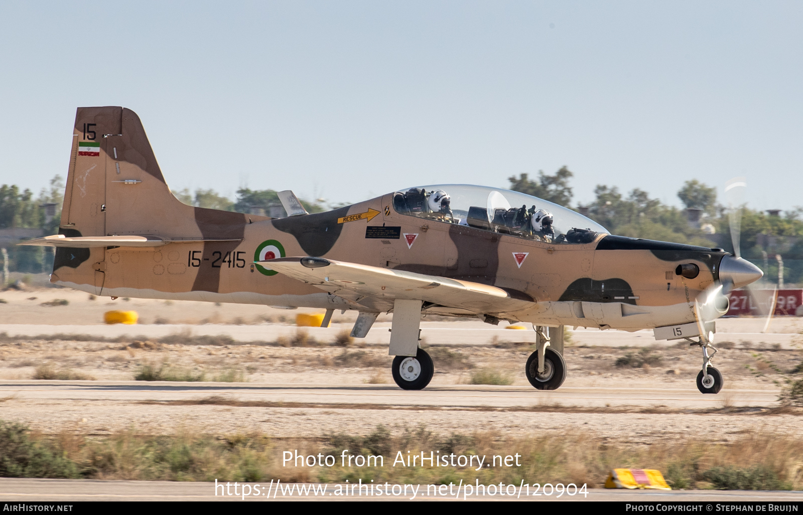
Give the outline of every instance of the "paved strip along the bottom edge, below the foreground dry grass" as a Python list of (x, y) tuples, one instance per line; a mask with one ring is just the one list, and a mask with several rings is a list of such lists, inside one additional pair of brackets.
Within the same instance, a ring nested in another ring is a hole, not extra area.
[[(263, 481), (267, 493), (269, 481)], [(275, 486), (275, 485), (274, 485)], [(271, 496), (223, 496), (214, 495), (214, 483), (206, 482), (178, 482), (178, 481), (95, 481), (95, 480), (59, 480), (59, 479), (12, 479), (0, 478), (0, 502), (34, 502), (50, 501), (67, 503), (74, 501), (463, 501), (464, 496), (454, 495), (438, 496), (426, 494), (426, 486), (421, 485), (418, 493), (413, 496), (409, 491), (406, 496), (336, 496), (332, 493), (335, 485), (327, 485), (327, 492), (322, 495), (300, 495), (298, 486), (294, 484), (283, 485), (286, 492), (273, 497), (275, 489), (271, 489)], [(301, 485), (308, 491), (309, 485)], [(516, 485), (518, 486), (518, 485)], [(316, 485), (318, 492), (322, 485)], [(292, 488), (292, 490), (290, 490)], [(218, 487), (218, 493), (221, 490)], [(526, 490), (525, 490), (526, 492)], [(532, 493), (532, 490), (530, 490)], [(665, 492), (657, 490), (618, 490), (618, 489), (589, 489), (588, 495), (569, 496), (564, 494), (560, 498), (553, 494), (550, 497), (533, 497), (527, 495), (501, 496), (499, 493), (490, 495), (467, 495), (467, 501), (627, 501), (627, 502), (729, 502), (764, 501), (772, 503), (800, 503), (803, 501), (803, 492), (749, 492), (749, 491), (715, 491), (715, 490), (688, 490)]]

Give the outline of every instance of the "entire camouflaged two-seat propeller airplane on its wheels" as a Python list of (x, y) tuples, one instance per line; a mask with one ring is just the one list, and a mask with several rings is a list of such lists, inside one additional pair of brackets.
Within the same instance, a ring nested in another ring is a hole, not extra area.
[(287, 217), (184, 205), (137, 114), (79, 107), (51, 282), (110, 297), (357, 310), (365, 338), (393, 313), (389, 354), (405, 389), (430, 382), (421, 315), (532, 322), (532, 386), (564, 382), (564, 326), (653, 329), (703, 352), (697, 387), (716, 393), (714, 320), (725, 293), (761, 271), (723, 249), (610, 235), (581, 214), (505, 189), (430, 185), (326, 213), (279, 193)]

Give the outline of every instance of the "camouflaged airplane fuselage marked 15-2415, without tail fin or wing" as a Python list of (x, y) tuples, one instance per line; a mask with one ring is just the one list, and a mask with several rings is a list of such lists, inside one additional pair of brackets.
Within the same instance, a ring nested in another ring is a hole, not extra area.
[[(114, 297), (389, 309), (381, 299), (329, 294), (253, 264), (270, 257), (328, 257), (498, 286), (513, 297), (532, 301), (526, 310), (485, 313), (496, 318), (637, 330), (693, 322), (692, 303), (719, 279), (719, 263), (729, 256), (721, 249), (602, 231), (590, 231), (588, 241), (573, 244), (522, 237), (516, 231), (461, 225), (454, 218), (403, 213), (396, 209), (393, 195), (326, 213), (251, 223), (246, 217), (246, 223), (240, 218), (238, 223), (217, 226), (218, 236), (238, 241), (58, 249), (61, 258), (52, 280)], [(378, 214), (370, 220), (361, 214), (372, 210)], [(73, 250), (84, 255), (83, 261), (75, 262)], [(698, 272), (679, 274), (683, 266)], [(457, 302), (426, 310), (478, 314), (472, 306)]]

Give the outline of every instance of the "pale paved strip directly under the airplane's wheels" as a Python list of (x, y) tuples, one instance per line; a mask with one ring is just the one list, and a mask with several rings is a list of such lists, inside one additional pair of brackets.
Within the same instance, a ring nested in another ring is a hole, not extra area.
[[(772, 403), (777, 390), (728, 390), (732, 406), (760, 406)], [(695, 387), (561, 387), (541, 391), (532, 387), (487, 385), (438, 385), (425, 390), (402, 390), (382, 384), (277, 384), (277, 383), (179, 383), (168, 381), (47, 381), (5, 380), (0, 396), (14, 399), (59, 402), (169, 402), (222, 395), (239, 401), (299, 403), (331, 408), (364, 404), (377, 408), (533, 408), (544, 404), (564, 407), (647, 408), (660, 405), (676, 409), (705, 409), (722, 406), (722, 397), (703, 395)]]

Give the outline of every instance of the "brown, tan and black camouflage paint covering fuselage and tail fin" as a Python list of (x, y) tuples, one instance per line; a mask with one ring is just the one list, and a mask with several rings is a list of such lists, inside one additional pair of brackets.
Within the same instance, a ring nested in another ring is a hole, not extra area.
[[(100, 155), (79, 155), (79, 143), (85, 141), (99, 143)], [(255, 251), (275, 241), (284, 251), (277, 258), (327, 257), (451, 278), (495, 286), (520, 301), (501, 302), (494, 310), (487, 302), (472, 304), (455, 296), (441, 305), (425, 304), (426, 312), (638, 330), (694, 322), (694, 299), (718, 279), (717, 267), (726, 255), (719, 249), (605, 234), (587, 244), (553, 245), (397, 213), (392, 198), (389, 193), (327, 213), (281, 219), (194, 208), (170, 192), (136, 113), (79, 107), (59, 233), (144, 235), (166, 243), (58, 248), (51, 282), (114, 297), (392, 310), (393, 298), (386, 296), (324, 291), (284, 274), (263, 274), (253, 265), (260, 260)], [(379, 213), (370, 220), (337, 223), (369, 209)], [(418, 237), (412, 245), (404, 237), (366, 237), (368, 226), (382, 225)], [(513, 253), (520, 252), (529, 254), (519, 267)], [(212, 266), (227, 253), (229, 262)], [(192, 266), (194, 257), (200, 266)], [(675, 274), (684, 263), (699, 266), (699, 275)]]

